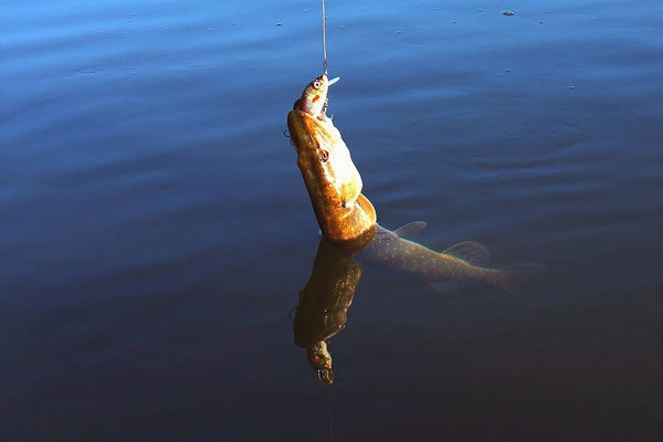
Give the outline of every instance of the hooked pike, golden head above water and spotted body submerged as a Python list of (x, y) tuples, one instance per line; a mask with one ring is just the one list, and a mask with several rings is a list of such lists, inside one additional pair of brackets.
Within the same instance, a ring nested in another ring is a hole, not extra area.
[(309, 108), (302, 102), (309, 99), (312, 91), (322, 94), (319, 99), (326, 99), (325, 81), (326, 75), (322, 75), (306, 86), (287, 115), (297, 166), (323, 235), (352, 254), (366, 249), (360, 257), (420, 276), (438, 291), (450, 283), (484, 282), (515, 293), (513, 280), (534, 271), (536, 264), (487, 267), (488, 250), (477, 242), (463, 241), (436, 252), (407, 238), (412, 231), (420, 231), (423, 222), (397, 231), (377, 223), (376, 209), (361, 193), (361, 176), (340, 131), (332, 118), (316, 114), (317, 107), (313, 114), (303, 110)]

